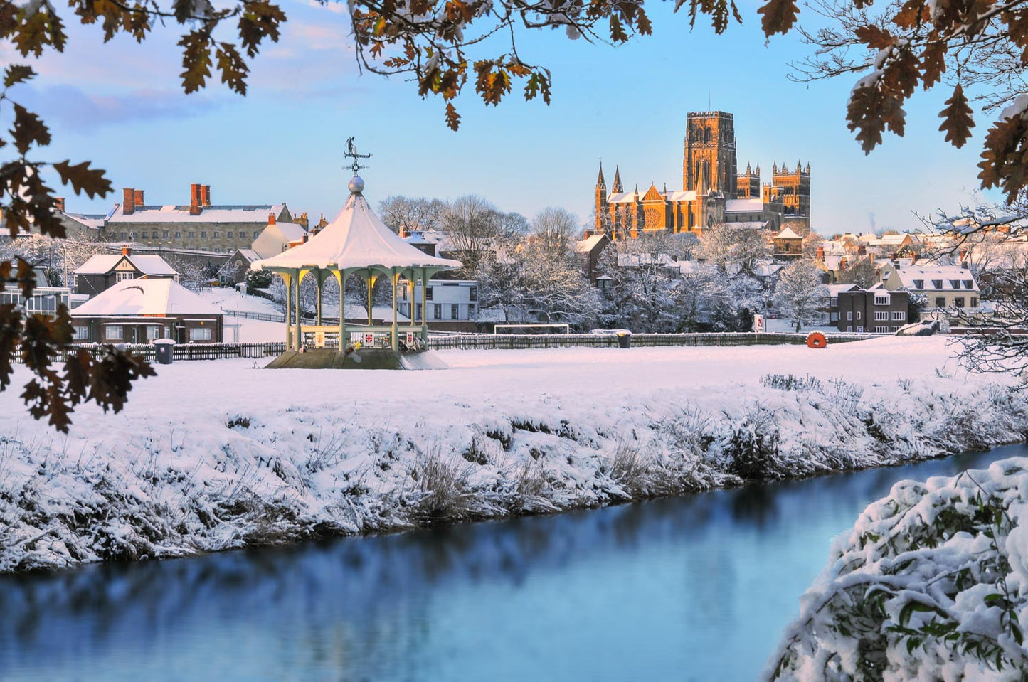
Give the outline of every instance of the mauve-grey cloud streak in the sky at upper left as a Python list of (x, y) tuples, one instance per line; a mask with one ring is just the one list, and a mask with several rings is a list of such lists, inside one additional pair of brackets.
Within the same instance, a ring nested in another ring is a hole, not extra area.
[(93, 94), (75, 85), (23, 86), (16, 99), (48, 123), (76, 131), (132, 121), (191, 118), (224, 104), (221, 98), (185, 96), (174, 90)]

